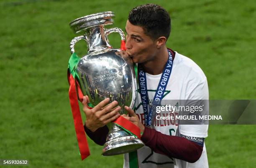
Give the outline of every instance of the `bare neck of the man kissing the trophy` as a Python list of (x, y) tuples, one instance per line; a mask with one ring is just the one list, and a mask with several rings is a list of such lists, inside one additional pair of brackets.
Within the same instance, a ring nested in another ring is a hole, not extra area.
[(167, 48), (162, 47), (153, 60), (142, 64), (143, 70), (151, 75), (159, 75), (163, 73), (168, 56)]

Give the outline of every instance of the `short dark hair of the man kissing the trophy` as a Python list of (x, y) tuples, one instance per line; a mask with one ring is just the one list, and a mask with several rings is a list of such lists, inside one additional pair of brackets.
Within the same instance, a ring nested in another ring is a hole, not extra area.
[(164, 36), (169, 38), (171, 32), (171, 18), (169, 13), (159, 5), (145, 4), (133, 8), (128, 16), (131, 24), (141, 26), (145, 34), (156, 40)]

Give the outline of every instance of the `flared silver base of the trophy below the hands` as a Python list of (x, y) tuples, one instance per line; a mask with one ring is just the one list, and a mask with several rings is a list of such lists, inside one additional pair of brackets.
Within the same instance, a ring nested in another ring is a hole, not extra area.
[(144, 146), (144, 143), (136, 136), (113, 124), (107, 135), (107, 142), (102, 151), (103, 156), (120, 155), (129, 153)]

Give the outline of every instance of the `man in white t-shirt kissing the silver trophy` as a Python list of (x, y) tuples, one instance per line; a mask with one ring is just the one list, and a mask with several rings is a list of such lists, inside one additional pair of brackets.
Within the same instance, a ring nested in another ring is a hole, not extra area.
[[(145, 146), (138, 150), (139, 167), (208, 168), (203, 142), (207, 137), (207, 125), (178, 125), (169, 121), (168, 124), (159, 124), (148, 117), (152, 111), (150, 102), (208, 99), (207, 79), (202, 70), (189, 58), (166, 48), (171, 30), (169, 14), (159, 5), (138, 6), (129, 13), (125, 30), (127, 50), (122, 55), (138, 64), (140, 90), (136, 100), (136, 113), (125, 106), (128, 116), (123, 117), (137, 125), (142, 133), (141, 140)], [(163, 75), (165, 72), (168, 72), (166, 76)], [(163, 76), (166, 80), (163, 80)], [(146, 92), (142, 90), (142, 80), (146, 81)], [(164, 90), (160, 89), (159, 92), (161, 84), (164, 85)], [(161, 91), (166, 94), (157, 98)], [(145, 97), (147, 100), (142, 101)], [(100, 145), (105, 143), (108, 133), (106, 124), (120, 116), (120, 107), (115, 108), (118, 104), (116, 101), (101, 110), (109, 101), (105, 99), (92, 109), (87, 107), (87, 96), (83, 101), (87, 118), (84, 129)], [(145, 102), (148, 108), (143, 108)], [(111, 111), (113, 108), (115, 109)], [(129, 168), (128, 154), (124, 155), (124, 168)]]

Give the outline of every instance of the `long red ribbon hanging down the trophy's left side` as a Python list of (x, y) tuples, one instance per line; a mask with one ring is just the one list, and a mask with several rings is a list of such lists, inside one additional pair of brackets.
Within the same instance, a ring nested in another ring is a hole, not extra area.
[[(81, 155), (81, 159), (84, 160), (90, 155), (90, 150), (89, 150), (86, 135), (84, 132), (84, 124), (82, 122), (81, 113), (79, 110), (75, 80), (73, 76), (70, 75), (70, 73), (68, 73), (68, 81), (70, 85), (69, 86), (69, 102), (71, 105), (72, 115), (74, 119), (74, 128), (76, 130), (78, 148)], [(78, 91), (78, 94), (79, 94), (79, 91)], [(81, 97), (79, 99), (81, 101)]]

